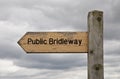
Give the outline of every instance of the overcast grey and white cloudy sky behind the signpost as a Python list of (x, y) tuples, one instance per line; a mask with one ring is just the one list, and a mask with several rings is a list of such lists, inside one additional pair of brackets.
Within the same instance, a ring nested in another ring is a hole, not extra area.
[(120, 0), (0, 0), (0, 79), (87, 79), (87, 54), (26, 54), (28, 31), (87, 31), (104, 12), (105, 79), (120, 79)]

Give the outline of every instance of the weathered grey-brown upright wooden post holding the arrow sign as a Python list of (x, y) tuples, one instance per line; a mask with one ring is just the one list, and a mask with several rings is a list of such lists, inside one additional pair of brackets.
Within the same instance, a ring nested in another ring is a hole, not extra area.
[(88, 79), (104, 79), (103, 12), (88, 14)]

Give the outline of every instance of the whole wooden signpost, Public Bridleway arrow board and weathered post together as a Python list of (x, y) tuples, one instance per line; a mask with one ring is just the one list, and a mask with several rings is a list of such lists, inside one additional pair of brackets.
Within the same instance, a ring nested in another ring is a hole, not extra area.
[(88, 32), (27, 32), (18, 44), (27, 53), (88, 53), (88, 79), (104, 79), (103, 12), (88, 14)]

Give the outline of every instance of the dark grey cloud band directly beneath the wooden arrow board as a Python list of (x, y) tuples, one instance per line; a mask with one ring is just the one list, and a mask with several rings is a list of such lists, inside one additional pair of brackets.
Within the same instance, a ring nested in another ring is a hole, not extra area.
[[(83, 57), (82, 57), (83, 56)], [(71, 67), (85, 66), (86, 59), (84, 55), (64, 55), (56, 58), (50, 55), (28, 55), (15, 62), (16, 65), (28, 68), (42, 69), (67, 69)], [(82, 61), (81, 61), (82, 60)]]

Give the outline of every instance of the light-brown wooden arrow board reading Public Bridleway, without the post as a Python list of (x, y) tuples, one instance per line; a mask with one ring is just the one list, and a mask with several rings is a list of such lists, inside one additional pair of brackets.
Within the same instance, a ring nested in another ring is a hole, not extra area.
[(27, 32), (18, 44), (27, 53), (88, 52), (87, 32)]

